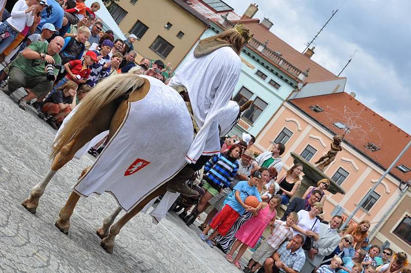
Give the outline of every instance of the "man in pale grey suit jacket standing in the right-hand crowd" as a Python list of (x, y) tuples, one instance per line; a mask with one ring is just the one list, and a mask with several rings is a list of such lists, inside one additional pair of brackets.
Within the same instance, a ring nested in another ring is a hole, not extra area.
[(343, 223), (343, 219), (339, 215), (332, 217), (328, 225), (320, 223), (319, 239), (314, 241), (310, 250), (304, 250), (306, 260), (303, 269), (300, 273), (311, 273), (316, 267), (321, 265), (324, 257), (331, 254), (341, 242), (340, 235), (337, 230)]

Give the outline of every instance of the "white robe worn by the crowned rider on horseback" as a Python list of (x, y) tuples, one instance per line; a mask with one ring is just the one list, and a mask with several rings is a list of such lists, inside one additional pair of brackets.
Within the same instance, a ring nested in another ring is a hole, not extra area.
[(183, 85), (187, 89), (200, 128), (185, 157), (187, 162), (195, 163), (202, 154), (219, 153), (216, 119), (233, 96), (240, 71), (240, 57), (226, 46), (200, 58), (193, 54), (171, 79), (170, 85)]

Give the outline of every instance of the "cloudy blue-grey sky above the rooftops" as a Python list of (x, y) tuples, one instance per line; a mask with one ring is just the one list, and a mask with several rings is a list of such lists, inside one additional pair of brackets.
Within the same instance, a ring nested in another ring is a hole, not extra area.
[[(248, 1), (223, 0), (241, 15)], [(347, 77), (345, 92), (411, 134), (411, 21), (408, 0), (253, 0), (254, 18), (270, 19), (270, 31), (303, 51), (315, 40), (312, 60)]]

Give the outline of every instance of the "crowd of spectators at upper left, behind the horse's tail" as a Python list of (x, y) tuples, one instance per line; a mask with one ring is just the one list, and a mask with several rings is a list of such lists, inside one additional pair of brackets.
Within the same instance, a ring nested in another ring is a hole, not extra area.
[(171, 63), (143, 58), (137, 64), (137, 38), (130, 34), (122, 41), (112, 30), (104, 31), (95, 13), (98, 2), (87, 7), (84, 0), (18, 0), (10, 11), (4, 1), (0, 6), (3, 91), (11, 95), (24, 87), (27, 95), (18, 106), (26, 110), (32, 103), (53, 129), (111, 75), (130, 72), (163, 82), (172, 76)]

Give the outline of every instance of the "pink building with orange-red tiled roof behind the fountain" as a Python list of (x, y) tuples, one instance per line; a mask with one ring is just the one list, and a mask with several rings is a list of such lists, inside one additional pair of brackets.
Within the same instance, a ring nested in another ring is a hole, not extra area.
[[(284, 143), (283, 163), (288, 170), (293, 165), (290, 152), (313, 163), (328, 152), (332, 137), (344, 134), (347, 128), (351, 129), (343, 150), (324, 171), (346, 192), (327, 194), (325, 219), (330, 219), (337, 205), (347, 217), (410, 141), (410, 135), (354, 99), (354, 94), (343, 92), (286, 101), (257, 135), (254, 147), (263, 152), (271, 149), (273, 141)], [(395, 251), (408, 254), (411, 217), (404, 216), (411, 215), (410, 170), (408, 150), (353, 217), (355, 222), (366, 219), (375, 223), (395, 214), (396, 220), (371, 224), (370, 237), (379, 244), (389, 241)]]

